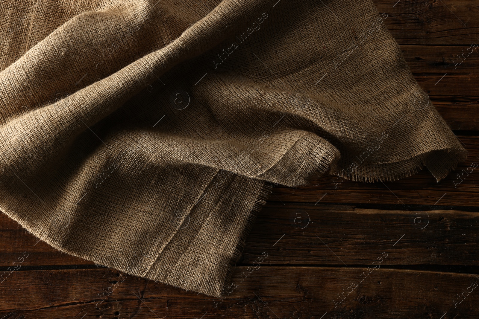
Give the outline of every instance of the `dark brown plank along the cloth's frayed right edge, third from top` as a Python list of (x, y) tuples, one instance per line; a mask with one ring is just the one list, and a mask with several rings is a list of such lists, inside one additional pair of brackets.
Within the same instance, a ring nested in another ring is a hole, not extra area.
[(414, 176), (385, 183), (352, 182), (329, 175), (318, 178), (310, 186), (274, 187), (274, 195), (269, 200), (316, 203), (322, 198), (322, 203), (479, 206), (479, 183), (476, 185), (479, 169), (471, 168), (471, 174), (462, 175), (472, 163), (479, 165), (479, 137), (458, 138), (468, 151), (468, 159), (440, 183), (426, 169)]

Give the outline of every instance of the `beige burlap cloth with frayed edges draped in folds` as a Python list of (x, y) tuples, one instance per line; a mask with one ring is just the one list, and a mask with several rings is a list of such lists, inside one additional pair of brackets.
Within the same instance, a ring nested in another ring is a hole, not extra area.
[(0, 4), (0, 209), (221, 296), (269, 188), (466, 157), (370, 0)]

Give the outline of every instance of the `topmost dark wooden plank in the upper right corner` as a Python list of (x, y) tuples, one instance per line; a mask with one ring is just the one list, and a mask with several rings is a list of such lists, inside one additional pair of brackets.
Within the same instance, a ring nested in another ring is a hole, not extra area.
[(474, 0), (373, 0), (399, 44), (479, 43), (479, 3)]

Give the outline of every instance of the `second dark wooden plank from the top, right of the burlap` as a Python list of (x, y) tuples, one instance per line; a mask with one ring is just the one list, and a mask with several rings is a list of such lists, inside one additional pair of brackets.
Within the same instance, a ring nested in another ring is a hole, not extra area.
[(479, 130), (479, 49), (401, 45), (401, 51), (447, 124), (453, 130)]

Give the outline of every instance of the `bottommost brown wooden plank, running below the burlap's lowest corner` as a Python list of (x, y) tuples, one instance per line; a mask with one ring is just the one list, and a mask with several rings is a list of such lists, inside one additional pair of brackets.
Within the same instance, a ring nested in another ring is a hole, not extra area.
[(0, 286), (0, 318), (479, 318), (477, 275), (258, 264), (233, 278), (215, 298), (106, 269), (18, 271)]

